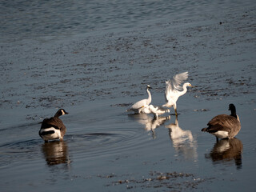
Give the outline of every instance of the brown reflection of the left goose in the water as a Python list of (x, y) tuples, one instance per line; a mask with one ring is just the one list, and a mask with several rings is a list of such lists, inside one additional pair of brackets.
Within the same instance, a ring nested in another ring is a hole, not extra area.
[(42, 145), (42, 153), (48, 166), (70, 164), (68, 147), (64, 141), (46, 142)]

